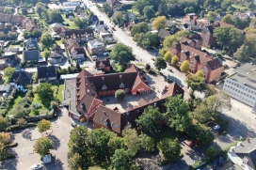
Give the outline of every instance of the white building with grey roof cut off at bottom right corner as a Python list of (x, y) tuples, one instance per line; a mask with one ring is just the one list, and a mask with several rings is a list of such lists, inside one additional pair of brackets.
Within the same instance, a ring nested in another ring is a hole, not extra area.
[(248, 138), (237, 143), (236, 147), (231, 147), (228, 152), (228, 161), (237, 164), (236, 169), (254, 170), (256, 169), (256, 138)]

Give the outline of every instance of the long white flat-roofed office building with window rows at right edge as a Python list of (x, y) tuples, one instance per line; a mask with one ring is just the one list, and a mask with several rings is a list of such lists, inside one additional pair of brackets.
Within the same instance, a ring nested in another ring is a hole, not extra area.
[(226, 78), (223, 91), (253, 108), (256, 113), (256, 65), (246, 63)]

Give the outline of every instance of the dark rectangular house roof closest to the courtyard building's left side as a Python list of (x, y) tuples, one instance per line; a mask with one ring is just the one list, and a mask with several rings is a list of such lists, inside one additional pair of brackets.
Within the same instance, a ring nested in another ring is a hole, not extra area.
[(56, 66), (45, 66), (45, 67), (39, 67), (37, 69), (38, 69), (39, 79), (56, 77)]

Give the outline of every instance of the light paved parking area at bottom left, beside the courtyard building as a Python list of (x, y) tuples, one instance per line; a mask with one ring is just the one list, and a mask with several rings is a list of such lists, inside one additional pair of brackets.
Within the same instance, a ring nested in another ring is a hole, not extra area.
[[(66, 110), (62, 110), (62, 113), (59, 113), (57, 119), (52, 120), (52, 130), (53, 133), (49, 135), (49, 138), (54, 141), (54, 149), (51, 150), (53, 162), (46, 164), (44, 169), (68, 169), (67, 144), (72, 126), (70, 125)], [(18, 143), (18, 147), (13, 147), (12, 149), (17, 156), (15, 159), (1, 162), (0, 169), (24, 170), (29, 169), (34, 164), (40, 163), (40, 155), (33, 152), (35, 142), (41, 137), (37, 128), (13, 131), (11, 137)]]

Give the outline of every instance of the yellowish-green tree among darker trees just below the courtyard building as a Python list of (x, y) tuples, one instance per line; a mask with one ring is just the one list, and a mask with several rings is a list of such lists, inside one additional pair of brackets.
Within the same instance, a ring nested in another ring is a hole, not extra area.
[(139, 149), (139, 140), (135, 129), (125, 128), (122, 131), (124, 145), (131, 150), (132, 155), (136, 155)]

